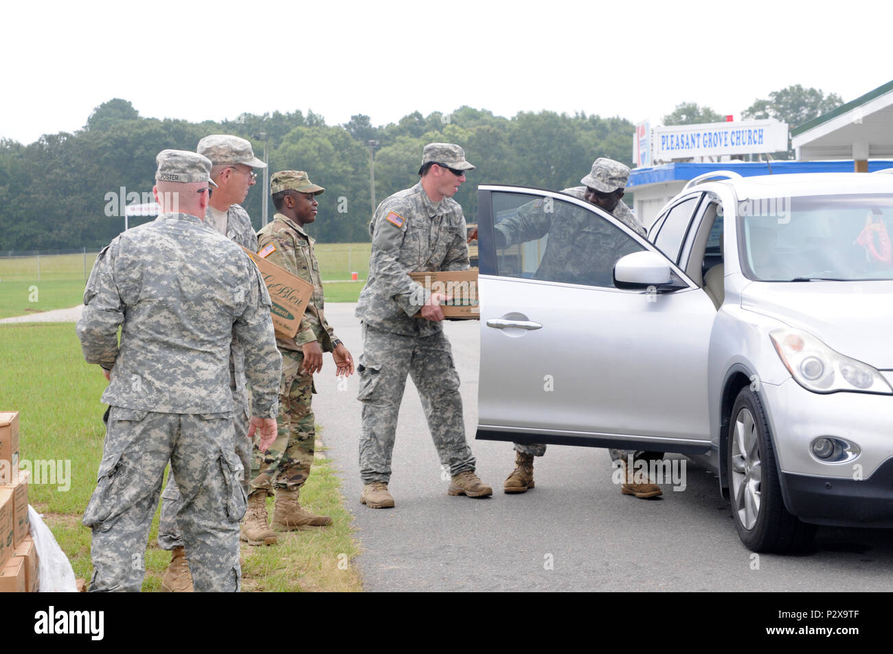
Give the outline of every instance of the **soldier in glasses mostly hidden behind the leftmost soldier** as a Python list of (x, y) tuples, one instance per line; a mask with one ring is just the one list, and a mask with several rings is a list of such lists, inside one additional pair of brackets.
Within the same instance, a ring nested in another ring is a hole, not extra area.
[[(211, 160), (211, 178), (216, 187), (208, 203), (204, 223), (216, 229), (242, 247), (257, 251), (255, 229), (251, 226), (248, 213), (239, 203), (245, 202), (248, 189), (255, 184), (254, 168), (266, 168), (263, 161), (255, 157), (251, 144), (244, 138), (229, 134), (213, 134), (198, 142), (196, 152)], [(242, 346), (233, 339), (230, 352), (230, 391), (235, 410), (233, 411), (236, 429), (236, 453), (245, 468), (242, 487), (248, 492), (248, 475), (251, 470), (251, 441), (248, 434), (248, 391), (245, 381), (245, 357)], [(162, 515), (158, 525), (158, 546), (171, 551), (171, 564), (164, 575), (162, 588), (168, 592), (191, 592), (192, 579), (183, 536), (177, 526), (177, 511), (182, 505), (177, 483), (169, 476), (168, 484), (162, 493)], [(267, 534), (269, 544), (276, 542), (273, 534)]]

